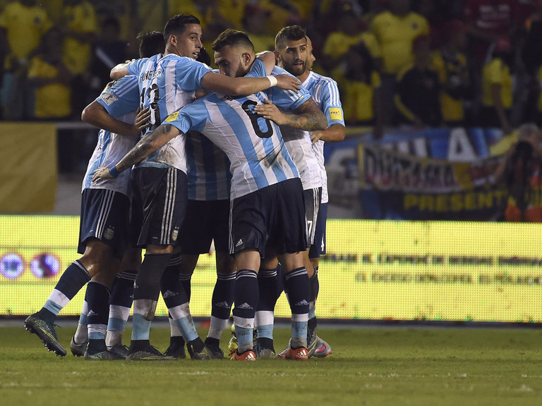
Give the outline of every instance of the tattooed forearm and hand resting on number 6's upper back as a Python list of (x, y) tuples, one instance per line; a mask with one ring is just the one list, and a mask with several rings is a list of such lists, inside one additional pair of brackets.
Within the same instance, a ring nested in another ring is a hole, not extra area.
[(275, 104), (267, 99), (265, 99), (265, 104), (255, 106), (254, 110), (263, 118), (275, 121), (278, 125), (288, 125), (306, 131), (327, 128), (327, 120), (312, 98), (301, 104), (294, 113), (280, 111)]

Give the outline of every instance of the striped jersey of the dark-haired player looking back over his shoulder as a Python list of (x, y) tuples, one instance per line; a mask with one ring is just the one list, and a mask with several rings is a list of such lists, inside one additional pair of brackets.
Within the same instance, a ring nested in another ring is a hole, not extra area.
[[(211, 68), (191, 58), (168, 54), (151, 56), (128, 63), (128, 73), (138, 76), (141, 108), (150, 106), (150, 128), (154, 130), (164, 119), (186, 106), (200, 89), (201, 79)], [(157, 149), (138, 166), (172, 166), (186, 173), (185, 137), (175, 137)]]

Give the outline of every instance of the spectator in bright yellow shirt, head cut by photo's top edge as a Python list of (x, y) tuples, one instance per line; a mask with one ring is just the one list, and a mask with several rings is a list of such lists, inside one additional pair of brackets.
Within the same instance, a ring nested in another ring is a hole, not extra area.
[(410, 0), (390, 0), (390, 10), (373, 18), (371, 32), (382, 52), (383, 111), (385, 123), (391, 123), (397, 74), (414, 62), (412, 42), (418, 35), (429, 33), (429, 23), (425, 17), (411, 11)]

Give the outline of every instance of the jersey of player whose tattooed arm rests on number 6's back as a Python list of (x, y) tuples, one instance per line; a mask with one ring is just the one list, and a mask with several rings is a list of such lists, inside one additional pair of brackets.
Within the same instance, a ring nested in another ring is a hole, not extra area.
[[(273, 68), (271, 74), (275, 76), (282, 74), (289, 75), (286, 70), (278, 66)], [(299, 90), (299, 93), (292, 92), (291, 90), (282, 90), (278, 87), (272, 87), (266, 90), (266, 92), (270, 96), (270, 101), (275, 106), (289, 111), (296, 110), (301, 104), (311, 98), (311, 94), (304, 87)], [(303, 190), (321, 187), (320, 164), (318, 164), (318, 159), (316, 159), (313, 149), (311, 133), (300, 130), (299, 128), (291, 128), (288, 125), (281, 125), (280, 132), (282, 133), (284, 144), (286, 144), (291, 159), (294, 160), (299, 171)]]

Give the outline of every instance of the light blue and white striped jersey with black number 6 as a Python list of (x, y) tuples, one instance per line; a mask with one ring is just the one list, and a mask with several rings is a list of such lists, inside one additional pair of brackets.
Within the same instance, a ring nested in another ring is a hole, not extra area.
[(222, 149), (230, 161), (231, 196), (236, 199), (299, 173), (277, 124), (258, 116), (263, 92), (246, 97), (210, 93), (169, 116), (164, 123), (182, 133), (199, 131)]

